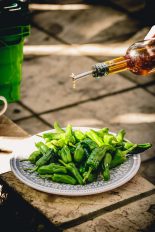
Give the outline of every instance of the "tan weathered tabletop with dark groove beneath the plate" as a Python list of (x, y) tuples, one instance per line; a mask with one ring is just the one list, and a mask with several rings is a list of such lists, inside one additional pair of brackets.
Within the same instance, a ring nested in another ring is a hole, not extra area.
[[(4, 135), (28, 136), (5, 116), (0, 118), (0, 136)], [(23, 215), (27, 207), (27, 217), (39, 215), (50, 231), (151, 231), (154, 225), (155, 189), (139, 174), (113, 191), (83, 197), (39, 192), (12, 172), (1, 175), (1, 182), (13, 194), (12, 207), (20, 205)]]

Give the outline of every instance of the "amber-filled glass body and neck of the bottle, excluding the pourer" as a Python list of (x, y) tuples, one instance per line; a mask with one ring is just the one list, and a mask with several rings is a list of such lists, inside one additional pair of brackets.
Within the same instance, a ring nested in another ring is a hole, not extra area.
[[(155, 72), (155, 39), (137, 42), (129, 47), (125, 56), (106, 61), (106, 75), (130, 70), (137, 75)], [(104, 76), (104, 75), (103, 75)]]

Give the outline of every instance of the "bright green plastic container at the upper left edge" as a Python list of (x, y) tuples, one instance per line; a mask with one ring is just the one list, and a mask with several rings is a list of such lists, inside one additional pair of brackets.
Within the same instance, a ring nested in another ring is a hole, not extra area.
[(23, 43), (29, 34), (29, 25), (0, 30), (0, 95), (8, 102), (20, 99)]

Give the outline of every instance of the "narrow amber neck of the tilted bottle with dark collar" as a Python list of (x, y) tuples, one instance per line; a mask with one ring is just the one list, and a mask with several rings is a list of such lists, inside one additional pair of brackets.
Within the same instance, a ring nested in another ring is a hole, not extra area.
[(99, 63), (94, 66), (93, 77), (99, 78), (107, 76), (109, 74), (125, 71), (128, 68), (129, 59), (125, 56), (121, 56), (104, 63)]

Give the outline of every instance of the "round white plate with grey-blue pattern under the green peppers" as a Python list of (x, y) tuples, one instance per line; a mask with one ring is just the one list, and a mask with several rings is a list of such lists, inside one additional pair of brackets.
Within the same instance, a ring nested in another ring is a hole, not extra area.
[[(73, 129), (79, 129), (83, 132), (86, 132), (90, 129), (97, 130), (95, 128), (86, 127), (74, 127)], [(54, 130), (44, 131), (40, 134), (47, 132), (54, 132)], [(135, 176), (140, 167), (141, 159), (140, 155), (137, 154), (130, 156), (125, 163), (112, 169), (111, 178), (109, 181), (103, 181), (101, 178), (98, 178), (97, 181), (86, 185), (69, 185), (55, 183), (50, 180), (40, 178), (37, 173), (29, 173), (28, 171), (25, 171), (25, 168), (32, 167), (33, 165), (28, 161), (20, 162), (20, 159), (27, 158), (31, 152), (36, 150), (35, 143), (39, 141), (43, 141), (43, 139), (36, 135), (27, 139), (23, 145), (22, 154), (16, 153), (14, 157), (10, 160), (10, 166), (12, 172), (19, 180), (34, 189), (46, 193), (67, 196), (82, 196), (106, 192), (128, 182), (133, 176)]]

